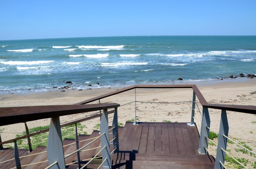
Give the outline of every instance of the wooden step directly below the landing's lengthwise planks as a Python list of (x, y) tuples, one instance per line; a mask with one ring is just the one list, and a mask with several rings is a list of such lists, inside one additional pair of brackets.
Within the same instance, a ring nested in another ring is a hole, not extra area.
[(168, 162), (215, 162), (212, 156), (194, 154), (137, 154), (116, 153), (111, 155), (112, 160), (136, 160), (136, 161), (168, 161)]

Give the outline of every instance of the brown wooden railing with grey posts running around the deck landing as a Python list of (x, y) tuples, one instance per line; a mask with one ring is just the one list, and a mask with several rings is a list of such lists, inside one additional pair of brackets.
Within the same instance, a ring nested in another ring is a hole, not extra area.
[[(210, 127), (210, 117), (209, 117), (209, 110), (208, 109), (217, 109), (221, 110), (221, 120), (220, 120), (220, 130), (219, 130), (219, 138), (218, 138), (218, 147), (217, 147), (217, 154), (216, 154), (216, 164), (215, 169), (222, 169), (224, 160), (225, 160), (225, 150), (227, 145), (227, 138), (225, 136), (228, 136), (228, 121), (227, 121), (227, 114), (226, 111), (234, 111), (234, 112), (242, 112), (242, 113), (248, 113), (248, 114), (256, 114), (256, 106), (253, 105), (225, 105), (225, 104), (209, 104), (204, 99), (202, 93), (195, 85), (134, 85), (129, 86), (127, 88), (123, 88), (114, 92), (110, 92), (107, 94), (103, 94), (98, 97), (94, 97), (92, 99), (88, 99), (79, 103), (76, 103), (75, 105), (63, 105), (63, 106), (30, 106), (30, 107), (19, 107), (19, 108), (0, 108), (0, 120), (1, 125), (8, 125), (8, 124), (14, 124), (14, 123), (24, 123), (26, 121), (32, 121), (37, 119), (44, 119), (44, 118), (54, 118), (57, 116), (63, 116), (67, 114), (75, 114), (80, 112), (89, 112), (89, 111), (95, 111), (95, 110), (104, 110), (103, 114), (106, 114), (106, 110), (108, 108), (117, 108), (119, 105), (116, 103), (105, 103), (105, 104), (93, 104), (93, 105), (87, 105), (88, 103), (91, 103), (93, 101), (99, 101), (101, 99), (114, 96), (119, 93), (123, 93), (129, 90), (135, 90), (135, 124), (136, 124), (136, 89), (139, 88), (191, 88), (193, 90), (193, 101), (192, 101), (192, 112), (191, 112), (191, 121), (189, 125), (193, 125), (195, 123), (194, 121), (194, 115), (195, 115), (195, 99), (196, 97), (200, 101), (202, 105), (202, 123), (201, 123), (201, 131), (200, 131), (200, 143), (198, 151), (200, 154), (207, 154), (208, 152), (208, 138), (209, 138), (209, 127)], [(18, 112), (18, 114), (17, 114)], [(113, 113), (108, 112), (108, 113)], [(107, 114), (108, 114), (107, 113)], [(83, 119), (79, 119), (77, 121), (73, 121), (67, 124), (64, 124), (62, 126), (67, 126), (70, 124), (75, 124), (80, 121), (86, 121), (88, 119), (96, 118), (98, 116), (101, 116), (101, 114), (97, 114), (95, 116), (86, 117)], [(116, 115), (117, 119), (117, 115)], [(3, 123), (2, 123), (3, 122)], [(113, 121), (114, 123), (114, 121)], [(117, 125), (117, 121), (115, 121)], [(20, 138), (15, 138), (12, 140), (4, 141), (0, 143), (0, 145), (9, 143), (12, 141), (16, 141), (21, 138), (26, 138), (32, 135), (36, 135), (39, 133), (46, 132), (48, 130), (43, 130), (37, 133), (28, 134), (26, 136), (22, 136)], [(109, 141), (109, 140), (108, 140)], [(117, 151), (116, 151), (117, 152)], [(52, 162), (53, 163), (53, 162)], [(49, 162), (49, 165), (52, 163)]]

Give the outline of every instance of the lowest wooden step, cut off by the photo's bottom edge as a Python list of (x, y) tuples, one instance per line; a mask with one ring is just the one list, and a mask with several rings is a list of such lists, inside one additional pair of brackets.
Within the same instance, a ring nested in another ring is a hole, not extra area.
[(112, 169), (213, 169), (213, 162), (112, 161)]

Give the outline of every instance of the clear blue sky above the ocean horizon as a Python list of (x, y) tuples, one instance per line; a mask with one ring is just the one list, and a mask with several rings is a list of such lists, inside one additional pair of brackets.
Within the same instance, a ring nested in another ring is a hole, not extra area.
[(256, 35), (256, 0), (0, 0), (0, 40)]

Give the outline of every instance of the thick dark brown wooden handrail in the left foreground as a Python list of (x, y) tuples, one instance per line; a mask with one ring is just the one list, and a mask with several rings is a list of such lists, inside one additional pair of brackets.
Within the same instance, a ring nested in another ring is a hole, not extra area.
[(89, 105), (41, 105), (0, 108), (0, 126), (47, 119), (56, 116), (117, 108), (119, 106), (120, 105), (117, 103), (102, 103)]

